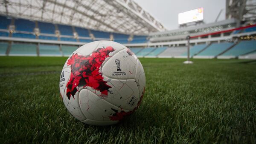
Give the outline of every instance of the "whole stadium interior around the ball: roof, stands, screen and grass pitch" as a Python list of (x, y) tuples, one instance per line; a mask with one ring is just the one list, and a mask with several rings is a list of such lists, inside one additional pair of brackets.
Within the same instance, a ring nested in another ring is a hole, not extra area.
[[(0, 0), (0, 143), (256, 143), (256, 1), (225, 3), (224, 20), (198, 6), (168, 30), (136, 0)], [(70, 115), (58, 86), (99, 40), (131, 49), (146, 77), (139, 109), (105, 127)]]

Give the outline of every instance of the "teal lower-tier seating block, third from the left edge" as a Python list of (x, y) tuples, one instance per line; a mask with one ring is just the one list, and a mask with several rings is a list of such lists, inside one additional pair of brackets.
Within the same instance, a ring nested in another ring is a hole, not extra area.
[(40, 56), (61, 56), (61, 51), (58, 45), (39, 45)]

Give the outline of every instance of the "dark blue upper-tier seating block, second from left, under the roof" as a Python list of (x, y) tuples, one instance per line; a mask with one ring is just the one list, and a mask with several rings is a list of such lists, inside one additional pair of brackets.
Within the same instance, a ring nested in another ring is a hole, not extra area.
[(16, 31), (28, 31), (33, 32), (35, 28), (35, 22), (24, 20), (24, 19), (17, 19), (15, 20), (15, 30)]

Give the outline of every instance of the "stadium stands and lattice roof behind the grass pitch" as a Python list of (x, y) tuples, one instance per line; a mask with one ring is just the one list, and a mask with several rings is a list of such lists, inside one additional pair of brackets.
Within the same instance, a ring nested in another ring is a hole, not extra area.
[(193, 58), (256, 59), (253, 2), (238, 2), (227, 0), (227, 20), (167, 31), (133, 0), (0, 0), (0, 54), (69, 56), (88, 42), (113, 40), (138, 57), (185, 58), (189, 35)]

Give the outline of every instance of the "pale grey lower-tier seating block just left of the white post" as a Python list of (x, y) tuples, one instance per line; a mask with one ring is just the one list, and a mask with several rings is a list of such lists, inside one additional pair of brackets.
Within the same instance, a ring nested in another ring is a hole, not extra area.
[[(161, 54), (158, 55), (158, 57), (165, 58), (165, 57), (177, 57), (183, 54), (187, 50), (186, 47), (172, 47), (172, 48), (166, 48), (165, 51), (163, 51)], [(185, 57), (185, 56), (183, 56)]]

